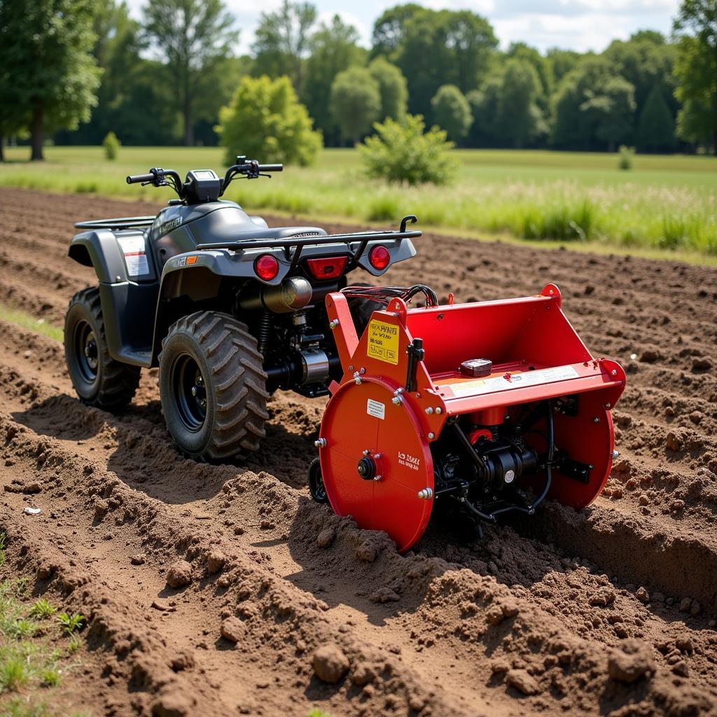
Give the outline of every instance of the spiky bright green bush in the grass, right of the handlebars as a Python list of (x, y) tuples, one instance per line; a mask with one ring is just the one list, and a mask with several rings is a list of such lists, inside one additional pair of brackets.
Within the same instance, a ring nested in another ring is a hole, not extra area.
[(374, 124), (376, 134), (359, 145), (366, 174), (398, 184), (447, 184), (456, 169), (448, 153), (453, 143), (445, 130), (424, 132), (425, 126), (421, 115)]

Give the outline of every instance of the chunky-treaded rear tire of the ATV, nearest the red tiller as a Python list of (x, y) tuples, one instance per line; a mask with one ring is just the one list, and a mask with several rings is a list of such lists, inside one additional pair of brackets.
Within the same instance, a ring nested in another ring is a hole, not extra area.
[(174, 323), (159, 355), (159, 393), (180, 449), (221, 461), (257, 450), (269, 418), (257, 341), (229, 314), (200, 311)]

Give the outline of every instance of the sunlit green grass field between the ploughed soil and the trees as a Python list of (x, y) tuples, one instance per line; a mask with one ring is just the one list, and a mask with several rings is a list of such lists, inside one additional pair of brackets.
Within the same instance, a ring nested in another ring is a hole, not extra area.
[[(105, 161), (99, 147), (47, 149), (31, 164), (27, 148), (9, 148), (0, 185), (128, 198), (169, 198), (168, 191), (125, 184), (151, 166), (222, 168), (220, 148), (122, 148)], [(460, 150), (451, 186), (402, 188), (365, 179), (353, 150), (327, 149), (310, 168), (289, 167), (271, 181), (237, 182), (229, 191), (252, 212), (321, 219), (397, 222), (417, 214), (424, 227), (467, 234), (589, 242), (652, 253), (717, 257), (717, 158), (636, 156), (631, 171), (617, 155)]]

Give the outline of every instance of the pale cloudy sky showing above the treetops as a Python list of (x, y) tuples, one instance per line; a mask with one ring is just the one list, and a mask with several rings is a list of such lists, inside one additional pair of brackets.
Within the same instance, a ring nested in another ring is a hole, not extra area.
[[(320, 20), (341, 15), (371, 44), (374, 20), (385, 9), (406, 0), (313, 0)], [(527, 42), (541, 51), (549, 47), (579, 52), (602, 52), (613, 39), (627, 39), (639, 29), (669, 34), (679, 0), (419, 0), (433, 9), (473, 10), (488, 18), (500, 47)], [(224, 0), (241, 29), (237, 54), (249, 52), (262, 11), (272, 11), (281, 0)], [(143, 0), (128, 0), (138, 19)]]

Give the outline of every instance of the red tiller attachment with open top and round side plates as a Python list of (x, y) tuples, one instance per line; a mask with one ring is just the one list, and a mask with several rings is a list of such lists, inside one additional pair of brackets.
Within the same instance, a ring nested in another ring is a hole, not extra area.
[[(417, 293), (426, 306), (407, 308)], [(361, 337), (352, 297), (386, 307)], [(330, 387), (312, 493), (318, 485), (338, 515), (406, 551), (433, 513), (480, 534), (481, 523), (532, 515), (546, 498), (574, 508), (597, 498), (625, 371), (593, 358), (555, 285), (456, 305), (437, 305), (420, 285), (353, 287), (326, 308), (343, 377)]]

